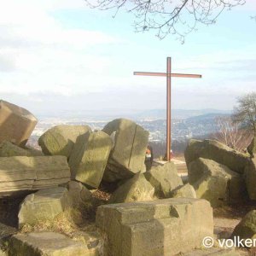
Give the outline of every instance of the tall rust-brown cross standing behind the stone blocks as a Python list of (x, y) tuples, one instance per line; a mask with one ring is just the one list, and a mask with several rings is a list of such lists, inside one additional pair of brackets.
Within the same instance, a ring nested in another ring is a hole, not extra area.
[(192, 78), (201, 79), (199, 74), (185, 74), (171, 72), (171, 57), (167, 57), (166, 73), (151, 73), (151, 72), (134, 72), (134, 75), (139, 76), (154, 76), (166, 77), (166, 160), (170, 161), (172, 141), (171, 141), (171, 78)]

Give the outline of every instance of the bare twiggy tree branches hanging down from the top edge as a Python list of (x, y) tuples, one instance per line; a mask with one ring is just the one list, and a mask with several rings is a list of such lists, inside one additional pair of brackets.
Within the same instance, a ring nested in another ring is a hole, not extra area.
[(85, 0), (91, 8), (119, 9), (135, 15), (137, 32), (154, 30), (159, 38), (176, 35), (182, 42), (198, 23), (211, 25), (224, 10), (246, 3), (246, 0)]

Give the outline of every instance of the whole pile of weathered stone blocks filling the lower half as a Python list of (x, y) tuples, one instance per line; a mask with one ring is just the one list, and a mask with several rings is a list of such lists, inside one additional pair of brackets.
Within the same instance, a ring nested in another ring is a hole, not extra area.
[[(114, 119), (102, 131), (55, 125), (39, 137), (42, 150), (26, 145), (36, 124), (26, 109), (0, 101), (0, 200), (21, 199), (14, 227), (0, 219), (0, 255), (188, 253), (213, 237), (212, 207), (256, 199), (254, 144), (249, 156), (215, 141), (191, 141), (183, 183), (172, 162), (146, 172), (148, 131), (129, 119)], [(106, 200), (95, 196), (101, 188)], [(86, 230), (92, 209), (94, 229)], [(79, 212), (83, 229), (74, 222), (68, 236), (45, 230), (68, 212)], [(254, 215), (235, 232), (250, 225), (252, 237)], [(37, 224), (44, 229), (32, 230)]]

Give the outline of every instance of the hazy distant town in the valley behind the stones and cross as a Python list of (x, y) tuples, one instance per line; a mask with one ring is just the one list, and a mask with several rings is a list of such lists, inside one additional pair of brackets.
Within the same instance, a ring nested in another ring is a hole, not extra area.
[[(209, 134), (218, 131), (216, 118), (220, 115), (229, 115), (229, 113), (203, 113), (187, 117), (186, 115), (172, 119), (172, 144), (176, 151), (183, 151), (185, 144), (190, 138), (204, 138)], [(185, 118), (184, 118), (185, 117)], [(138, 125), (149, 131), (149, 142), (156, 145), (162, 145), (166, 142), (166, 119), (157, 119), (154, 117), (136, 116), (134, 119)], [(113, 119), (113, 118), (112, 118)], [(32, 133), (30, 144), (38, 147), (38, 137), (54, 125), (89, 125), (92, 130), (102, 130), (112, 119), (97, 117), (95, 119), (86, 119), (84, 117), (38, 117), (38, 125)]]

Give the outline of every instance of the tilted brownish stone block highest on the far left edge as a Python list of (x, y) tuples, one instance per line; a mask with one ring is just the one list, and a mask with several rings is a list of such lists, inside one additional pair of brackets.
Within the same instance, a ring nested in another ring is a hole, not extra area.
[(25, 108), (0, 101), (0, 143), (25, 146), (37, 123), (38, 119)]

